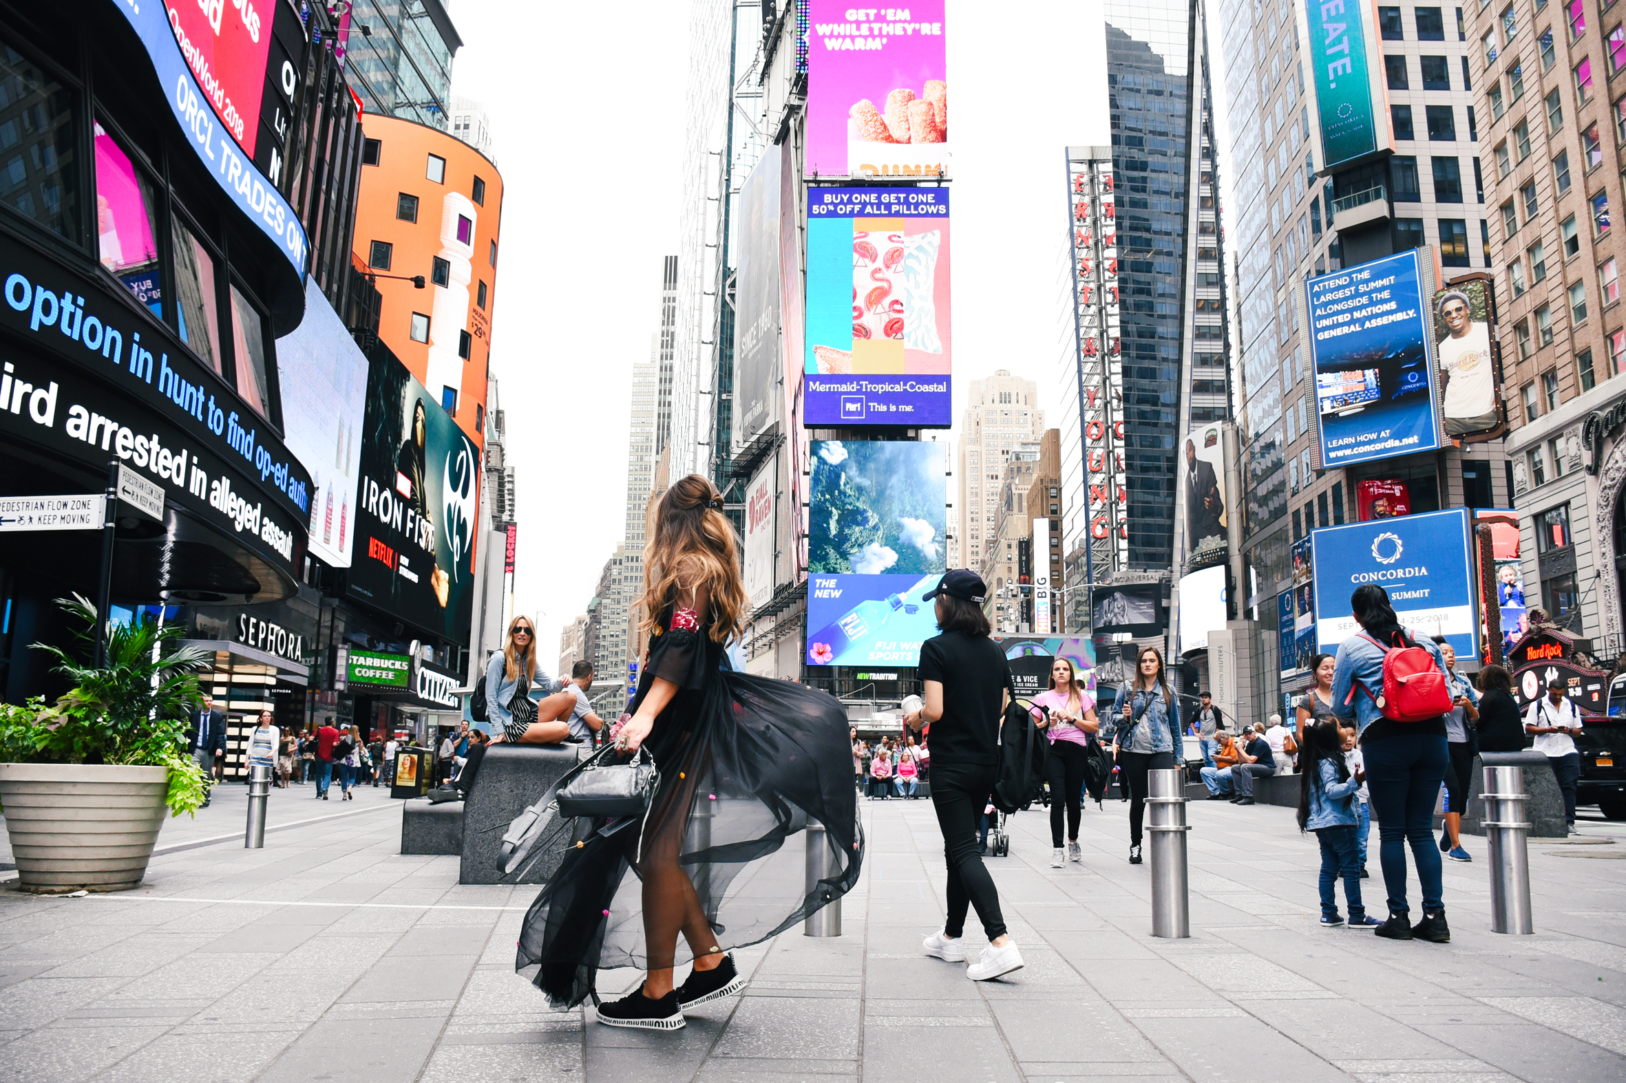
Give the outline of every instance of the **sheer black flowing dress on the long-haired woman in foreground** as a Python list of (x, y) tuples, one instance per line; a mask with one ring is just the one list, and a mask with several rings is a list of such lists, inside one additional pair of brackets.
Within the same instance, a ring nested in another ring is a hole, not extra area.
[[(647, 943), (646, 881), (659, 885), (652, 909), (662, 911), (688, 907), (683, 881), (693, 885), (727, 951), (836, 901), (863, 860), (847, 715), (834, 698), (722, 668), (722, 644), (702, 631), (652, 636), (644, 675), (633, 712), (649, 678), (680, 688), (644, 742), (660, 771), (650, 811), (642, 828), (593, 834), (567, 850), (520, 930), (515, 969), (558, 1011), (595, 992), (600, 969), (693, 958), (681, 935), (675, 950)], [(803, 833), (813, 824), (826, 831), (834, 872), (808, 893)]]

